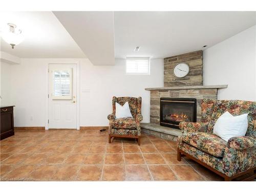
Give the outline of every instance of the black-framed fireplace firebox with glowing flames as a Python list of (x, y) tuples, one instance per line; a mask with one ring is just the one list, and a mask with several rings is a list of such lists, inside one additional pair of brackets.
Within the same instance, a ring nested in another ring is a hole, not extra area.
[(160, 98), (160, 125), (179, 129), (183, 121), (197, 121), (197, 99)]

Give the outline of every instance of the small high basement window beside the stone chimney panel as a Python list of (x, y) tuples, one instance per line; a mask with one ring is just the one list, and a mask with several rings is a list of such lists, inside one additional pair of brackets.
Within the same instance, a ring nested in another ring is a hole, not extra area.
[(150, 75), (150, 58), (126, 57), (126, 74)]

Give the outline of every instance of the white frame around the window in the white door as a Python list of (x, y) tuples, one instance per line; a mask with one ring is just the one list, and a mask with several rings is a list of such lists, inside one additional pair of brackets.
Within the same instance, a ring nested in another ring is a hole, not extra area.
[[(54, 71), (70, 71), (70, 75), (69, 75), (69, 80), (70, 80), (70, 84), (69, 84), (69, 90), (70, 90), (70, 94), (69, 96), (54, 96), (54, 85), (53, 85), (53, 79), (54, 79)], [(53, 69), (51, 71), (51, 87), (52, 87), (52, 99), (65, 99), (65, 100), (70, 100), (73, 99), (73, 69), (72, 68), (56, 68)]]

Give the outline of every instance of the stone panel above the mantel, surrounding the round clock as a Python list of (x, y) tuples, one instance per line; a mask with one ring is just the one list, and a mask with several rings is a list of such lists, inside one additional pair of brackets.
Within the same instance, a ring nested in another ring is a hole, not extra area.
[[(173, 68), (180, 62), (186, 62), (190, 68), (188, 75), (183, 78), (177, 78), (173, 75)], [(164, 58), (164, 87), (202, 85), (202, 50)]]

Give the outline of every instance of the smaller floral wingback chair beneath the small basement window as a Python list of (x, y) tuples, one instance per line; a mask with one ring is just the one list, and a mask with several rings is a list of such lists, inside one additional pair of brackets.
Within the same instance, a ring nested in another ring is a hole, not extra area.
[[(132, 118), (116, 119), (116, 102), (123, 105), (126, 101), (129, 103)], [(113, 97), (113, 112), (108, 115), (109, 124), (109, 142), (112, 137), (136, 138), (140, 145), (140, 122), (143, 117), (141, 115), (141, 97)]]

